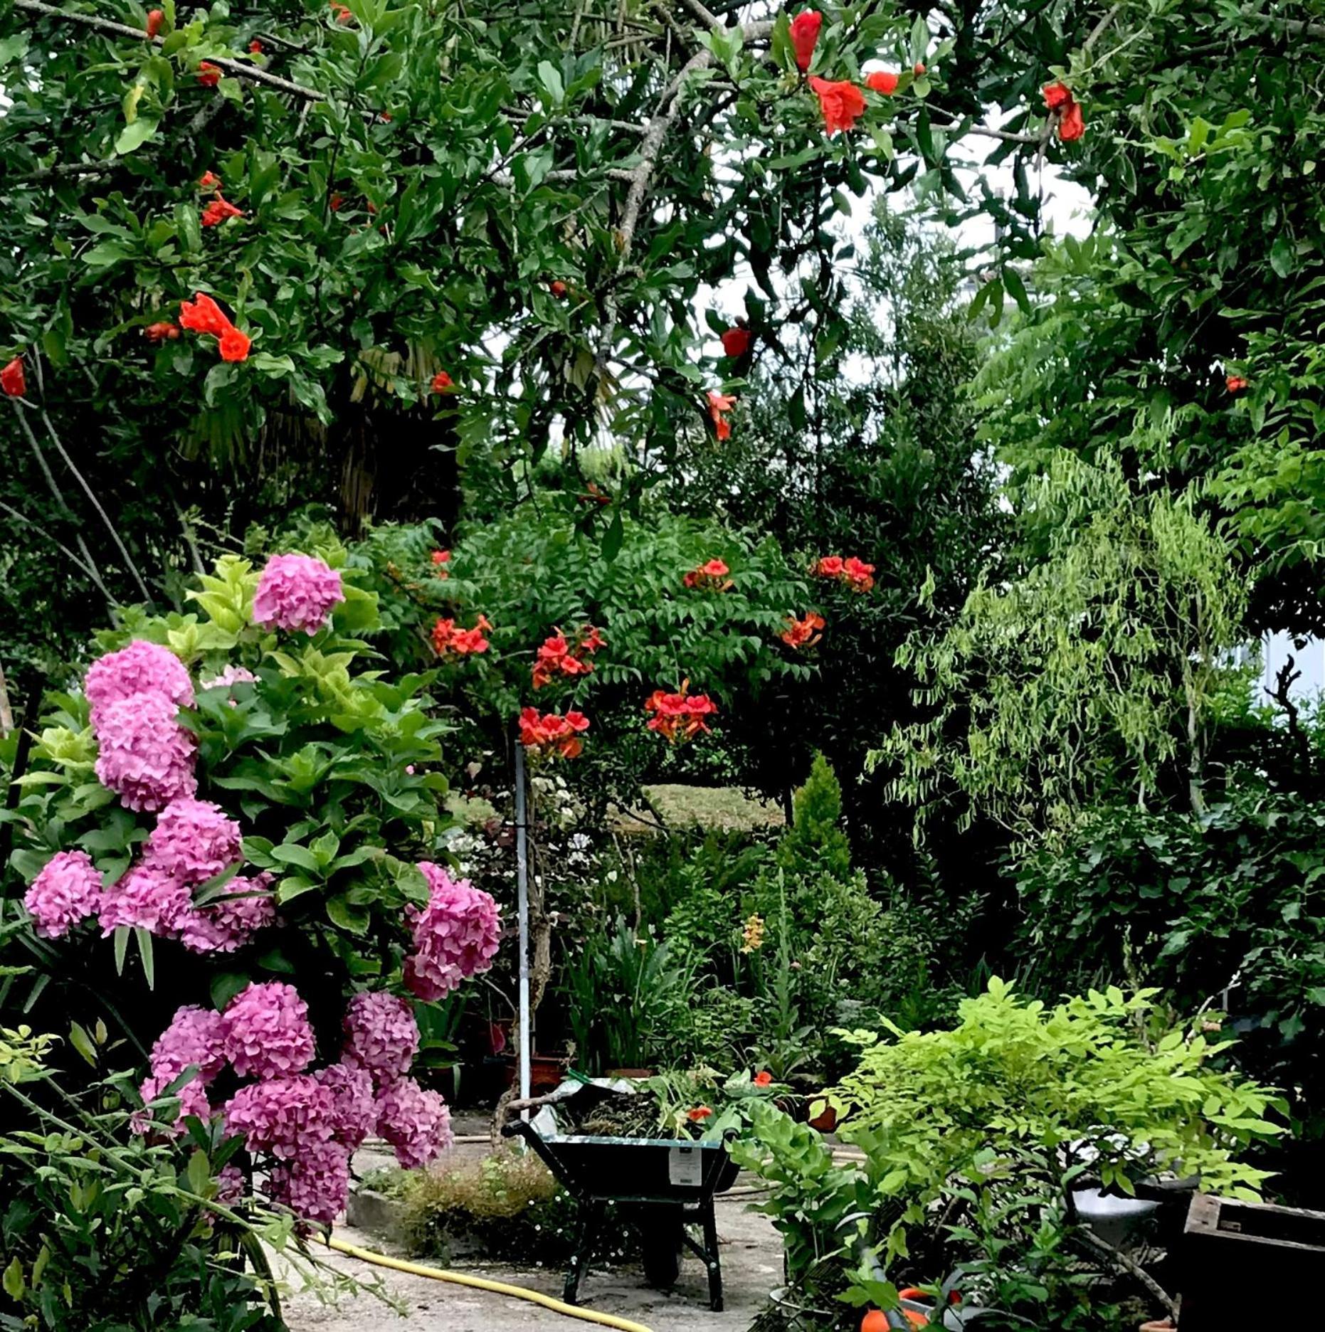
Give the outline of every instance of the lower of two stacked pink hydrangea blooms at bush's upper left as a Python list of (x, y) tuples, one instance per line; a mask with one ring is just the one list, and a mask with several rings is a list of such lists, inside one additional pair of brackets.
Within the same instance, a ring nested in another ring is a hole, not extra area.
[(197, 742), (165, 694), (131, 694), (108, 703), (97, 725), (97, 781), (125, 809), (162, 810), (198, 789)]

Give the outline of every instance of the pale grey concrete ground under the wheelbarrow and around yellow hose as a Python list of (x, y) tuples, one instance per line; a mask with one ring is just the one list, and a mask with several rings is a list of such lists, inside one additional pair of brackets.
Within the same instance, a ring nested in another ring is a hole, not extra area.
[[(475, 1132), (479, 1123), (475, 1120), (473, 1126)], [(458, 1134), (465, 1131), (465, 1124), (457, 1124)], [(478, 1160), (483, 1155), (486, 1148), (482, 1144), (457, 1144), (451, 1148), (450, 1164)], [(356, 1159), (356, 1169), (364, 1173), (384, 1163), (361, 1154)], [(750, 1199), (740, 1189), (747, 1183), (742, 1177), (732, 1193), (716, 1199), (726, 1296), (722, 1313), (710, 1312), (706, 1273), (699, 1260), (688, 1253), (682, 1260), (680, 1275), (671, 1292), (653, 1289), (639, 1264), (595, 1267), (585, 1279), (581, 1304), (643, 1323), (653, 1332), (744, 1332), (782, 1277), (778, 1235), (767, 1217), (746, 1211)], [(352, 1244), (403, 1256), (376, 1236), (346, 1227), (337, 1227), (336, 1233)], [(429, 1328), (445, 1332), (571, 1332), (577, 1327), (573, 1320), (526, 1300), (368, 1267), (341, 1253), (332, 1253), (330, 1260), (357, 1277), (380, 1279), (385, 1291), (406, 1307), (406, 1316), (396, 1313), (368, 1292), (345, 1297), (336, 1305), (324, 1305), (316, 1295), (304, 1292), (290, 1295), (285, 1304), (286, 1321), (293, 1332), (413, 1332), (415, 1328), (419, 1332)], [(559, 1265), (489, 1264), (466, 1259), (457, 1260), (454, 1268), (561, 1297), (563, 1272)]]

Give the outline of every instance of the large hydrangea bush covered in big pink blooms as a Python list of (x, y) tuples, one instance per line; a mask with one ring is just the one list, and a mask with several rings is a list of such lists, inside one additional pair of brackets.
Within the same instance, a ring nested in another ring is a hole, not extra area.
[(369, 1134), (406, 1167), (449, 1144), (414, 1003), (490, 967), (501, 918), (438, 863), (431, 677), (360, 666), (376, 597), (305, 554), (226, 557), (189, 597), (128, 613), (55, 698), (17, 810), (25, 927), (48, 995), (150, 1050), (137, 1132), (220, 1127), (228, 1192), (256, 1176), (329, 1223)]

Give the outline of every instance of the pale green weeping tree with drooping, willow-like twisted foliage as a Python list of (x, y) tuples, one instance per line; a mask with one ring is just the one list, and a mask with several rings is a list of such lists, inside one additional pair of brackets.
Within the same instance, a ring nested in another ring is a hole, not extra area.
[(892, 790), (922, 815), (963, 801), (1019, 834), (1175, 785), (1201, 813), (1206, 717), (1245, 611), (1226, 542), (1191, 492), (1139, 489), (1109, 458), (1059, 454), (1020, 502), (1043, 549), (900, 649), (928, 715), (875, 762), (899, 765)]

